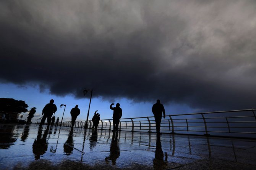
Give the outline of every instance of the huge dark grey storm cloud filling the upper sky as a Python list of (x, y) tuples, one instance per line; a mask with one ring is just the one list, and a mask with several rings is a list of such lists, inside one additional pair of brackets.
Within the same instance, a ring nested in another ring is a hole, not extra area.
[(1, 1), (0, 79), (106, 100), (255, 108), (254, 1)]

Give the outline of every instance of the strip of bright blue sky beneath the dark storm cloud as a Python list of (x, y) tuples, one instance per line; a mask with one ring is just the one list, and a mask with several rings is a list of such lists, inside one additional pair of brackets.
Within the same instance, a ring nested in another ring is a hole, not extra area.
[[(84, 121), (87, 117), (88, 107), (89, 107), (89, 96), (90, 93), (88, 92), (86, 95), (88, 97), (84, 99), (75, 99), (72, 95), (67, 95), (65, 97), (60, 97), (56, 95), (51, 95), (49, 92), (40, 92), (38, 87), (31, 87), (31, 86), (17, 86), (15, 84), (0, 84), (0, 97), (1, 98), (13, 98), (15, 100), (23, 100), (28, 104), (28, 110), (31, 107), (36, 107), (36, 113), (34, 114), (34, 118), (32, 122), (35, 121), (37, 118), (40, 118), (42, 115), (42, 109), (44, 106), (49, 103), (50, 99), (55, 100), (55, 105), (57, 106), (57, 111), (55, 113), (55, 117), (59, 117), (60, 120), (62, 118), (62, 114), (64, 111), (64, 107), (60, 108), (60, 104), (66, 104), (65, 113), (63, 116), (63, 121), (70, 121), (70, 110), (71, 108), (75, 107), (75, 105), (79, 105), (79, 109), (81, 111), (80, 115), (78, 116), (77, 120)], [(81, 91), (83, 93), (83, 91)], [(113, 99), (115, 100), (114, 103), (120, 103), (120, 107), (123, 110), (122, 118), (132, 118), (132, 117), (146, 117), (146, 116), (153, 116), (151, 112), (152, 105), (154, 103), (134, 103), (131, 100), (127, 100), (125, 98), (122, 99)], [(89, 111), (89, 120), (92, 118), (93, 113), (98, 110), (101, 119), (112, 119), (113, 111), (109, 109), (109, 105), (111, 102), (102, 100), (99, 98), (95, 98), (92, 95), (92, 101)], [(164, 104), (164, 103), (163, 103)], [(166, 114), (182, 114), (182, 113), (191, 113), (193, 110), (185, 105), (164, 105)], [(24, 117), (28, 113), (23, 113)]]

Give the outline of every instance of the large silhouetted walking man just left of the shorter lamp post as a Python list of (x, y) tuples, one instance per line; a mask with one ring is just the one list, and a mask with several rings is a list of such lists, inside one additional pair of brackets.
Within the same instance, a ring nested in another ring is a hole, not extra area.
[(52, 119), (52, 114), (57, 111), (57, 107), (54, 103), (54, 100), (51, 99), (50, 103), (46, 104), (43, 108), (42, 115), (42, 120), (40, 122), (40, 126), (44, 124), (45, 119), (47, 118), (47, 125), (50, 126), (51, 124), (51, 119)]

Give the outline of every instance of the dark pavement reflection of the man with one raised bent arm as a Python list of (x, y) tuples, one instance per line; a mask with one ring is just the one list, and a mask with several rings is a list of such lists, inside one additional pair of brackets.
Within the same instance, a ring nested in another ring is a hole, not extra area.
[(120, 148), (117, 142), (118, 132), (114, 132), (110, 145), (110, 155), (105, 158), (107, 164), (109, 164), (109, 160), (112, 160), (112, 165), (115, 165), (117, 158), (120, 156)]

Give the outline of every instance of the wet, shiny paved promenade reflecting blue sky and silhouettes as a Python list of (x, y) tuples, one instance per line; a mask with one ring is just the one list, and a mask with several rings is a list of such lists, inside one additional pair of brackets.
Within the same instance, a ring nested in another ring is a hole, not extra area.
[(0, 124), (0, 169), (256, 169), (256, 140)]

